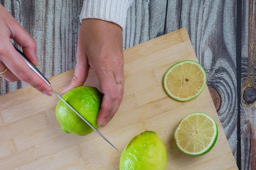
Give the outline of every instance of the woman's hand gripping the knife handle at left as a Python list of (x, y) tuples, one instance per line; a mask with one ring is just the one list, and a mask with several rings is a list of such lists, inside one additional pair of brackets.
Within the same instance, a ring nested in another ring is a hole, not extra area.
[[(0, 76), (9, 82), (18, 79), (45, 95), (52, 95), (52, 88), (32, 71), (15, 51), (10, 38), (22, 47), (28, 59), (38, 65), (35, 40), (20, 26), (18, 21), (0, 4)], [(6, 72), (3, 72), (6, 70)]]

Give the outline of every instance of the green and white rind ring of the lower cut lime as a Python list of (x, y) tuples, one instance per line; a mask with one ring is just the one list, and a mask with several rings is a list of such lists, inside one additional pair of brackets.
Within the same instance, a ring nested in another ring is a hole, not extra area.
[[(209, 120), (212, 121), (213, 123), (213, 128), (214, 128), (214, 134), (213, 134), (213, 137), (211, 138), (211, 142), (209, 143), (209, 145), (204, 148), (203, 150), (201, 150), (200, 152), (188, 152), (186, 150), (184, 150), (180, 144), (179, 144), (179, 141), (177, 140), (177, 130), (179, 130), (179, 126), (180, 124), (182, 124), (183, 121), (185, 121), (186, 119), (188, 119), (188, 117), (192, 116), (192, 115), (204, 115), (205, 117), (207, 117)], [(177, 147), (182, 151), (184, 152), (186, 155), (191, 155), (191, 156), (201, 156), (201, 155), (204, 155), (208, 152), (210, 152), (210, 150), (213, 148), (213, 146), (216, 144), (216, 141), (218, 139), (218, 127), (217, 127), (217, 124), (216, 124), (216, 121), (209, 115), (207, 115), (206, 113), (200, 113), (200, 112), (196, 112), (196, 113), (191, 113), (189, 115), (187, 115), (186, 117), (184, 117), (179, 125), (177, 126), (176, 130), (175, 130), (175, 133), (174, 133), (174, 140), (175, 140), (175, 143), (177, 145)]]

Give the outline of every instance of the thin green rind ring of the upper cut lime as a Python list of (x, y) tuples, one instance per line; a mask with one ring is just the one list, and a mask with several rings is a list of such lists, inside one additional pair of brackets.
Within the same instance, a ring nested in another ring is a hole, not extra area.
[[(196, 64), (197, 66), (200, 67), (200, 69), (202, 70), (202, 73), (203, 73), (203, 75), (204, 75), (204, 83), (203, 83), (202, 87), (199, 89), (198, 93), (196, 93), (195, 95), (190, 96), (190, 97), (186, 97), (186, 98), (180, 98), (180, 97), (177, 97), (177, 96), (173, 95), (173, 94), (168, 90), (168, 88), (167, 88), (167, 86), (166, 86), (166, 83), (167, 83), (167, 82), (166, 82), (166, 78), (167, 78), (168, 74), (173, 70), (173, 68), (175, 68), (175, 67), (178, 66), (178, 65), (182, 65), (182, 64), (184, 64), (184, 63), (186, 63), (186, 62), (187, 62), (187, 63)], [(202, 93), (202, 91), (204, 90), (204, 88), (205, 88), (205, 86), (206, 86), (206, 82), (207, 82), (207, 75), (206, 75), (206, 72), (205, 72), (204, 68), (202, 67), (202, 65), (201, 65), (200, 63), (195, 62), (195, 61), (193, 61), (193, 60), (183, 60), (183, 61), (181, 61), (181, 62), (177, 62), (176, 64), (174, 64), (173, 66), (171, 66), (171, 67), (166, 71), (166, 73), (164, 74), (164, 89), (165, 89), (166, 93), (167, 93), (169, 96), (171, 96), (173, 99), (178, 100), (178, 101), (182, 101), (182, 102), (186, 102), (186, 101), (189, 101), (189, 100), (192, 100), (192, 99), (195, 99), (196, 97), (198, 97), (198, 96)]]

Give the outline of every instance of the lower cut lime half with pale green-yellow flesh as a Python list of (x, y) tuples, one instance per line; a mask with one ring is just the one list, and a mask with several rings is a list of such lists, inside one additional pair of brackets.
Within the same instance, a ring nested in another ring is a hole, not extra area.
[(177, 147), (187, 155), (200, 156), (209, 152), (218, 138), (215, 120), (205, 113), (191, 113), (177, 126), (174, 139)]

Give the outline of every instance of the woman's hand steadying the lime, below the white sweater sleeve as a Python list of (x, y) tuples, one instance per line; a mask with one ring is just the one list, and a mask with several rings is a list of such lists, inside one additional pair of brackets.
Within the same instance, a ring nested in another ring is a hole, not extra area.
[(90, 66), (99, 79), (103, 101), (97, 124), (104, 127), (117, 112), (124, 94), (123, 34), (119, 25), (98, 19), (82, 20), (79, 30), (76, 68), (63, 93), (82, 86)]

